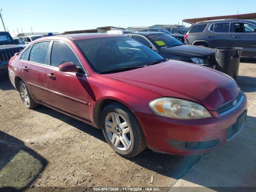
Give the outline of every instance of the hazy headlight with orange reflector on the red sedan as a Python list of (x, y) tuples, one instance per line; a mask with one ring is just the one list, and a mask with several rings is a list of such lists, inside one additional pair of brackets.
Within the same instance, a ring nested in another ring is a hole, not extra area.
[(176, 119), (199, 119), (211, 117), (211, 114), (204, 106), (178, 98), (157, 98), (152, 100), (148, 105), (155, 114), (164, 117)]

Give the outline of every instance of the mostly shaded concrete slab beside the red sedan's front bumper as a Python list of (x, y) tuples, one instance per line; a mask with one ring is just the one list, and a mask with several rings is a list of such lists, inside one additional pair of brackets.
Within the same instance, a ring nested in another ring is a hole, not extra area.
[[(256, 114), (255, 110), (254, 114)], [(210, 152), (208, 160), (196, 164), (182, 178), (189, 183), (182, 184), (180, 189), (176, 187), (176, 190), (172, 191), (255, 192), (255, 124), (256, 117), (247, 116), (243, 130), (224, 146)], [(201, 187), (197, 190), (194, 184), (211, 190)]]

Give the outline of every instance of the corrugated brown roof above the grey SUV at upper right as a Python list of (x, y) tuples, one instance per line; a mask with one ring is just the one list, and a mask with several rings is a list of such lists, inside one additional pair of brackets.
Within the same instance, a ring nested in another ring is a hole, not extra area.
[(253, 19), (253, 20), (256, 20), (256, 13), (184, 19), (182, 21), (186, 22), (186, 23), (194, 24), (194, 23), (201, 22), (201, 21), (218, 20), (218, 19)]

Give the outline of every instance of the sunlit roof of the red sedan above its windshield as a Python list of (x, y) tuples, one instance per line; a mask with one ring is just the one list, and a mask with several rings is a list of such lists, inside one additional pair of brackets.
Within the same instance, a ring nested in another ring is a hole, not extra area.
[(124, 35), (120, 34), (108, 34), (108, 33), (78, 33), (78, 34), (66, 34), (66, 35), (55, 35), (55, 36), (48, 36), (36, 39), (36, 41), (42, 40), (84, 40), (84, 39), (94, 39), (94, 38), (106, 38), (106, 37), (123, 37)]

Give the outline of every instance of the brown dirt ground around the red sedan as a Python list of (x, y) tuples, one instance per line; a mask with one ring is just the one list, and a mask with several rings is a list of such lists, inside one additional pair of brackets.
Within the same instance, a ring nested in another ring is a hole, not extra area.
[[(241, 62), (237, 82), (250, 106), (256, 102), (256, 59)], [(8, 78), (0, 80), (0, 188), (167, 188), (200, 158), (149, 149), (134, 158), (123, 158), (108, 146), (101, 130), (44, 106), (29, 110)], [(150, 184), (152, 177), (154, 182)]]

